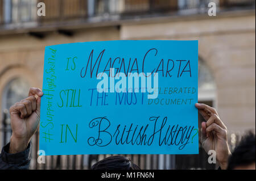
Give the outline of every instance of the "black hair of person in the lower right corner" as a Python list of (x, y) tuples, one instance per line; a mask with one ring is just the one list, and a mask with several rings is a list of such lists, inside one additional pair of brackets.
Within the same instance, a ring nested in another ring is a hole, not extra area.
[(255, 163), (255, 134), (248, 132), (229, 158), (228, 169)]

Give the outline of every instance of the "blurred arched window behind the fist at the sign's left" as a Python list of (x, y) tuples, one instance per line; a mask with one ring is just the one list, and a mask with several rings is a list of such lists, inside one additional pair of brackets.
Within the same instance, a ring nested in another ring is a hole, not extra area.
[[(11, 137), (10, 129), (10, 115), (9, 108), (19, 100), (22, 100), (28, 96), (28, 90), (30, 88), (29, 83), (22, 78), (12, 79), (3, 90), (2, 95), (2, 110), (3, 110), (3, 120), (1, 127), (3, 128), (2, 135), (3, 144), (7, 144)], [(0, 141), (0, 142), (1, 142)], [(1, 144), (0, 144), (1, 145)]]

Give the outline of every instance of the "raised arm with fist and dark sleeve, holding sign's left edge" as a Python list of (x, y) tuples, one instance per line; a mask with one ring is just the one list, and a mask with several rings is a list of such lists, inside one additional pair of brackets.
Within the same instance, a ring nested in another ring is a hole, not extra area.
[(31, 137), (40, 123), (40, 103), (43, 92), (31, 88), (26, 99), (10, 107), (10, 143), (3, 147), (0, 154), (0, 169), (28, 169), (30, 164)]

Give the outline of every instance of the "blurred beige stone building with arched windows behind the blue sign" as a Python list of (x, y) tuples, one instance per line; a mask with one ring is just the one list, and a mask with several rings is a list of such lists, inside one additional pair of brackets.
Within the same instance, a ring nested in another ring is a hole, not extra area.
[[(38, 3), (46, 16), (38, 16)], [(217, 15), (208, 16), (208, 3)], [(41, 87), (44, 47), (105, 40), (199, 40), (199, 102), (217, 109), (231, 148), (255, 130), (254, 0), (0, 0), (0, 146), (9, 142), (9, 107)], [(199, 124), (201, 122), (201, 117)], [(108, 155), (47, 156), (31, 169), (88, 169)], [(214, 169), (199, 155), (128, 155), (143, 169)]]

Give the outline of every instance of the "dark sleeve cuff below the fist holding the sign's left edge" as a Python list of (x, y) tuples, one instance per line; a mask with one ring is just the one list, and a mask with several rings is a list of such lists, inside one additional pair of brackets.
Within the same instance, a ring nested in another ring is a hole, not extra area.
[(0, 154), (0, 169), (29, 169), (31, 159), (31, 143), (28, 144), (26, 150), (15, 154), (8, 153), (9, 147), (10, 142), (2, 148), (2, 153)]

